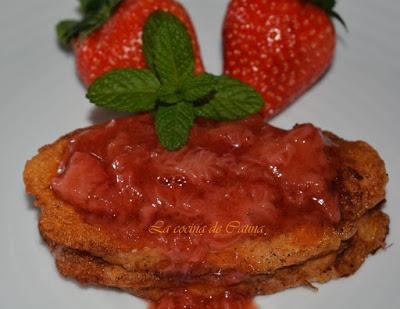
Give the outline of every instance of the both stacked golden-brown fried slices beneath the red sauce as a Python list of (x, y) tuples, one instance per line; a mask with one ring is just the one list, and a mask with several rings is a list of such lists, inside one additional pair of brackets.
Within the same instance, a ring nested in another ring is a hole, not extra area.
[(379, 207), (387, 183), (384, 162), (368, 144), (325, 132), (334, 145), (329, 156), (337, 171), (339, 225), (304, 222), (268, 240), (243, 239), (210, 252), (200, 273), (160, 272), (160, 265), (170, 262), (162, 251), (138, 250), (85, 223), (73, 205), (52, 191), (50, 182), (68, 141), (79, 132), (40, 149), (27, 163), (24, 180), (40, 208), (39, 229), (60, 273), (81, 283), (116, 287), (152, 300), (183, 286), (199, 295), (227, 290), (263, 295), (350, 275), (385, 246), (389, 219)]

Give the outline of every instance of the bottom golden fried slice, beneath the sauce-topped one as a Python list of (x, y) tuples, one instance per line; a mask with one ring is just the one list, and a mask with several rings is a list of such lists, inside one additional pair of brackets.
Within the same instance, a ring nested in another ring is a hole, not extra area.
[(271, 274), (251, 275), (239, 284), (224, 283), (224, 275), (196, 278), (196, 283), (191, 282), (192, 278), (186, 282), (182, 279), (174, 282), (161, 279), (154, 273), (129, 272), (121, 266), (71, 249), (56, 247), (53, 252), (62, 275), (82, 284), (117, 287), (146, 299), (158, 300), (182, 284), (192, 293), (201, 295), (218, 295), (226, 290), (244, 295), (266, 295), (353, 274), (369, 254), (385, 246), (388, 225), (389, 219), (382, 211), (371, 210), (358, 220), (357, 233), (338, 252), (284, 267)]

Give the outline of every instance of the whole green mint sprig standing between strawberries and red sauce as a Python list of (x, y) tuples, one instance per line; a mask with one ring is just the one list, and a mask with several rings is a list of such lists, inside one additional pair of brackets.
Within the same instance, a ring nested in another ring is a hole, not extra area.
[(257, 113), (264, 101), (249, 85), (227, 76), (195, 76), (190, 35), (174, 15), (156, 11), (143, 31), (148, 69), (114, 69), (89, 87), (97, 106), (154, 115), (160, 143), (175, 151), (187, 143), (196, 117), (237, 120)]

